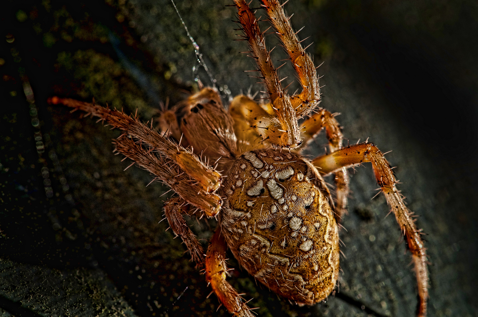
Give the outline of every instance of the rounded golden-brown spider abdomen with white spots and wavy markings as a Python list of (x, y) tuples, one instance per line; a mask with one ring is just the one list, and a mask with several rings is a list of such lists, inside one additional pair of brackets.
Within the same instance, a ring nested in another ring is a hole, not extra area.
[(244, 153), (224, 183), (221, 228), (246, 270), (298, 304), (324, 299), (338, 277), (338, 231), (328, 192), (299, 155)]

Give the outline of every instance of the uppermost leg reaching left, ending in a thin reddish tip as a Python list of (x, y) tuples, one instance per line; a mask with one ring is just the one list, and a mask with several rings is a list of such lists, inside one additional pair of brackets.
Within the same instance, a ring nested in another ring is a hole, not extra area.
[(70, 98), (52, 97), (49, 99), (49, 102), (54, 105), (63, 104), (75, 108), (75, 110), (83, 110), (87, 112), (87, 115), (98, 116), (100, 118), (99, 121), (106, 121), (112, 127), (124, 131), (125, 135), (129, 134), (154, 150), (160, 151), (164, 158), (177, 164), (182, 171), (185, 171), (186, 174), (196, 180), (206, 192), (216, 191), (221, 184), (221, 175), (216, 170), (206, 166), (191, 151), (163, 137), (154, 131), (152, 127), (142, 124), (136, 116), (127, 116), (122, 111), (116, 109), (109, 109)]

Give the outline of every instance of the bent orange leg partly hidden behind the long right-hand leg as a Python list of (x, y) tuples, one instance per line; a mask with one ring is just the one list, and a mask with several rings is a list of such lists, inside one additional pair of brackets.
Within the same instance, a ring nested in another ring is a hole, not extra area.
[[(330, 152), (335, 152), (342, 148), (343, 135), (340, 125), (335, 119), (334, 115), (328, 112), (326, 109), (316, 110), (315, 113), (306, 119), (300, 130), (301, 136), (304, 139), (304, 143), (307, 144), (311, 141), (322, 128), (325, 127), (326, 137), (329, 141)], [(335, 184), (337, 186), (336, 195), (337, 202), (335, 211), (337, 214), (337, 220), (340, 221), (342, 214), (347, 213), (348, 202), (348, 171), (343, 167), (335, 171)]]

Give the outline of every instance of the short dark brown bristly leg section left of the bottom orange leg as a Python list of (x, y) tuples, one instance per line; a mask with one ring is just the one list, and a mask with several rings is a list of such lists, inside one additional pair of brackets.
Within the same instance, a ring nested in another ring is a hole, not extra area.
[[(168, 219), (169, 225), (173, 232), (180, 236), (183, 239), (184, 244), (186, 245), (187, 250), (191, 254), (192, 261), (196, 262), (196, 266), (202, 265), (204, 263), (204, 250), (197, 241), (194, 233), (189, 229), (182, 213), (184, 212), (181, 207), (181, 199), (174, 197), (170, 198), (164, 202), (164, 215)], [(187, 207), (186, 207), (187, 208)]]

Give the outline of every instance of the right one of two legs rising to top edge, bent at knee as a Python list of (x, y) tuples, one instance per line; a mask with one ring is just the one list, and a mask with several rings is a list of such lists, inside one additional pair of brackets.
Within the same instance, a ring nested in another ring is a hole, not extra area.
[(272, 26), (277, 31), (279, 39), (284, 44), (285, 52), (289, 55), (292, 65), (297, 73), (302, 93), (291, 97), (292, 106), (296, 116), (301, 117), (314, 110), (320, 103), (320, 87), (315, 65), (309, 54), (305, 53), (290, 23), (290, 18), (285, 15), (282, 5), (278, 0), (261, 0), (269, 15)]

